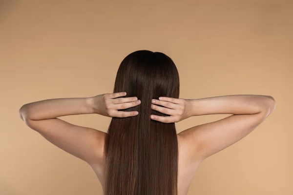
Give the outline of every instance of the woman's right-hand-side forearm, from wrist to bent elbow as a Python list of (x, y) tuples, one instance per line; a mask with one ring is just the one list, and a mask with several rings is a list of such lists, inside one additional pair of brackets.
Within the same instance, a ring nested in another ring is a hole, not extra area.
[(249, 115), (270, 112), (275, 101), (271, 96), (230, 95), (192, 99), (192, 116), (212, 114)]

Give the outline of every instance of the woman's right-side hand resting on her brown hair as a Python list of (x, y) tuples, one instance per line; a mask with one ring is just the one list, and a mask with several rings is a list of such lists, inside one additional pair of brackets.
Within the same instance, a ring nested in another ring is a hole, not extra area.
[[(164, 123), (179, 122), (192, 116), (192, 104), (191, 99), (183, 98), (168, 98), (160, 97), (162, 99), (152, 99), (151, 109), (160, 113), (170, 115), (170, 117), (162, 117), (157, 115), (151, 115), (151, 119)], [(153, 101), (155, 100), (155, 102)], [(157, 105), (161, 106), (157, 106)], [(153, 116), (153, 118), (152, 118)]]

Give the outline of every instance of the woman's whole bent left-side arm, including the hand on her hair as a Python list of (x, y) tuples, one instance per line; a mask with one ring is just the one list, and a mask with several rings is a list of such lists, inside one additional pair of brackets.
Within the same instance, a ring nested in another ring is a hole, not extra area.
[(126, 96), (126, 92), (102, 94), (89, 98), (46, 99), (24, 104), (19, 114), (28, 127), (65, 152), (88, 164), (102, 163), (106, 133), (74, 125), (57, 117), (81, 114), (99, 114), (106, 117), (136, 116), (135, 111), (118, 111), (140, 104), (140, 100), (136, 97), (119, 98), (123, 96)]

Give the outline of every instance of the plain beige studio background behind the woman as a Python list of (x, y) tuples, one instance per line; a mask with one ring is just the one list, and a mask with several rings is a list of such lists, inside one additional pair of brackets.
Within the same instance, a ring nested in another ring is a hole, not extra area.
[[(250, 135), (204, 160), (188, 195), (293, 195), (292, 0), (0, 1), (0, 195), (102, 194), (90, 166), (27, 127), (18, 110), (112, 93), (120, 62), (141, 49), (174, 60), (180, 98), (256, 94), (277, 102)], [(61, 118), (105, 132), (110, 121)]]

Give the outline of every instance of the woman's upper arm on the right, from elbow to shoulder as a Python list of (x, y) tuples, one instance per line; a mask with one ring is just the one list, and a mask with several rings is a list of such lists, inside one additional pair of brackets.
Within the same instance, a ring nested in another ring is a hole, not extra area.
[(182, 138), (191, 162), (202, 161), (250, 134), (272, 110), (253, 115), (229, 117), (191, 127), (178, 135)]

